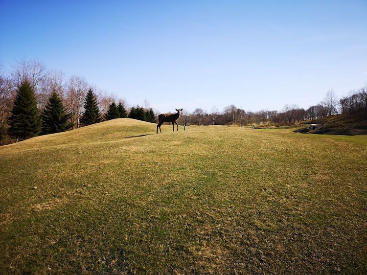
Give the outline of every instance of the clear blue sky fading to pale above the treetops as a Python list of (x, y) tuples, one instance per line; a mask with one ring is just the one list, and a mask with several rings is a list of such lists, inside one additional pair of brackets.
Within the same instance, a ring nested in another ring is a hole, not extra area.
[(280, 111), (367, 85), (367, 0), (0, 0), (0, 62), (162, 113)]

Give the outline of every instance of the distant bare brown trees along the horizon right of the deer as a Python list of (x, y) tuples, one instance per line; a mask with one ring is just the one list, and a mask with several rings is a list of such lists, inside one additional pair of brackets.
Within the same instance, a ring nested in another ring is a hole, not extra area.
[(367, 119), (367, 85), (338, 100), (335, 92), (326, 92), (324, 99), (308, 109), (299, 108), (296, 104), (286, 104), (281, 111), (260, 110), (252, 112), (235, 105), (229, 105), (219, 112), (213, 107), (211, 112), (196, 108), (192, 113), (182, 112), (182, 123), (186, 125), (284, 125), (336, 114), (357, 115), (361, 120)]

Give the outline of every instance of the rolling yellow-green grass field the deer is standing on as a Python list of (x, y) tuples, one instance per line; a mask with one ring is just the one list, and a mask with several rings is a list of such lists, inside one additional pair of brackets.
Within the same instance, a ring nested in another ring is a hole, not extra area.
[(367, 137), (293, 130), (115, 119), (2, 146), (0, 273), (367, 274)]

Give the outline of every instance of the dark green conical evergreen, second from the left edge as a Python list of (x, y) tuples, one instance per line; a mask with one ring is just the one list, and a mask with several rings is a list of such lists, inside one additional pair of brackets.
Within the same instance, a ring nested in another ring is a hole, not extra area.
[(42, 132), (44, 134), (53, 134), (68, 131), (74, 123), (70, 123), (71, 113), (66, 113), (60, 96), (53, 92), (48, 98), (45, 110), (42, 115)]

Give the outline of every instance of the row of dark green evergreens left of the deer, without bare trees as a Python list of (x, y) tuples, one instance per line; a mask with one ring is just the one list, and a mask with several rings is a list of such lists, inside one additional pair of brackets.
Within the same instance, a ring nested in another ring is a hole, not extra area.
[[(40, 112), (37, 108), (37, 102), (32, 86), (28, 80), (24, 80), (17, 90), (17, 94), (8, 118), (8, 135), (19, 140), (32, 138), (38, 135), (54, 134), (65, 132), (73, 128), (74, 123), (71, 122), (72, 113), (68, 113), (68, 109), (64, 106), (60, 96), (53, 92)], [(133, 107), (130, 114), (119, 102), (118, 106), (115, 102), (109, 105), (105, 115), (105, 120), (115, 118), (130, 117), (134, 119), (144, 120), (156, 123), (153, 110), (144, 110), (140, 107)], [(83, 113), (80, 118), (81, 126), (88, 126), (94, 123), (102, 122), (103, 117), (99, 111), (97, 99), (92, 89), (90, 89), (84, 100)]]

